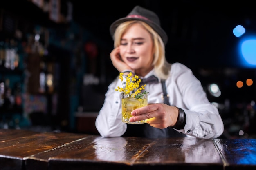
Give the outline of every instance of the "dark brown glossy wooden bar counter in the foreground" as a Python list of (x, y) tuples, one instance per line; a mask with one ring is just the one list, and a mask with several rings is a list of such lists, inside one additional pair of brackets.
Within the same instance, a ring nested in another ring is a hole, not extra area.
[(256, 139), (148, 139), (0, 129), (0, 170), (252, 170)]

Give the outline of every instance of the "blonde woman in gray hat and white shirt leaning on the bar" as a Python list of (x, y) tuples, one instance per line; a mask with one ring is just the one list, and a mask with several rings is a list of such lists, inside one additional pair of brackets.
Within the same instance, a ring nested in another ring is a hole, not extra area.
[[(177, 137), (217, 138), (224, 130), (218, 109), (207, 99), (202, 85), (191, 70), (181, 63), (169, 64), (165, 58), (168, 41), (159, 18), (148, 9), (136, 6), (125, 18), (110, 26), (115, 48), (110, 53), (113, 66), (141, 79), (157, 77), (147, 84), (148, 106), (132, 111), (131, 122), (147, 119), (147, 124), (121, 121), (121, 94), (115, 79), (105, 95), (95, 125), (103, 137)], [(164, 92), (167, 95), (164, 96)], [(164, 101), (164, 99), (166, 101)]]

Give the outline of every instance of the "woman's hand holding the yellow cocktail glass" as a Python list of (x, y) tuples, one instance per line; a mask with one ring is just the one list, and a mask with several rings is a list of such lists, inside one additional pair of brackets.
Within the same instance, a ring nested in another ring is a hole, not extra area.
[(167, 104), (148, 104), (132, 111), (130, 122), (147, 119), (147, 123), (155, 128), (164, 129), (174, 126), (178, 119), (179, 110)]

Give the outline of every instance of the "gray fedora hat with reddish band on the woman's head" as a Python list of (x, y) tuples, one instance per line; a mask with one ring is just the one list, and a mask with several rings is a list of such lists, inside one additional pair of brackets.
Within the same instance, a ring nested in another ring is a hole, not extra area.
[(153, 11), (150, 11), (140, 6), (135, 6), (125, 18), (120, 18), (110, 25), (111, 36), (114, 36), (117, 26), (119, 26), (122, 22), (130, 20), (140, 20), (146, 22), (160, 35), (164, 44), (166, 45), (168, 41), (168, 36), (166, 32), (161, 28), (158, 16)]

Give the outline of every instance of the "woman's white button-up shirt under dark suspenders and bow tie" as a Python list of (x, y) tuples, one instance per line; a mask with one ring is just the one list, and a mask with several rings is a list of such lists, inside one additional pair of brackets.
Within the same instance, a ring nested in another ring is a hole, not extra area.
[[(152, 70), (140, 78), (147, 78), (154, 73)], [(123, 83), (125, 85), (125, 79)], [(127, 124), (121, 121), (121, 93), (115, 91), (117, 86), (122, 87), (119, 76), (108, 86), (104, 104), (95, 122), (98, 132), (103, 137), (119, 137), (127, 129)], [(149, 92), (148, 103), (163, 103), (160, 80), (156, 84), (147, 84), (145, 90)], [(166, 91), (170, 105), (182, 108), (186, 114), (186, 125), (184, 129), (177, 130), (178, 132), (204, 139), (222, 135), (224, 125), (218, 109), (209, 102), (201, 82), (189, 68), (181, 63), (173, 63), (170, 76), (166, 79)]]

